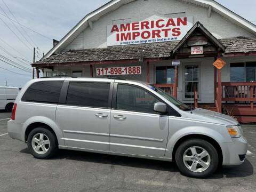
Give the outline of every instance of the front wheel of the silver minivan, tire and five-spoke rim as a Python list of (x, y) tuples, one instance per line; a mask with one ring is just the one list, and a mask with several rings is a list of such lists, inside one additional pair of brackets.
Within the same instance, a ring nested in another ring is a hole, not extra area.
[(182, 174), (193, 178), (207, 178), (219, 165), (217, 150), (211, 143), (202, 139), (182, 142), (176, 150), (175, 161)]

